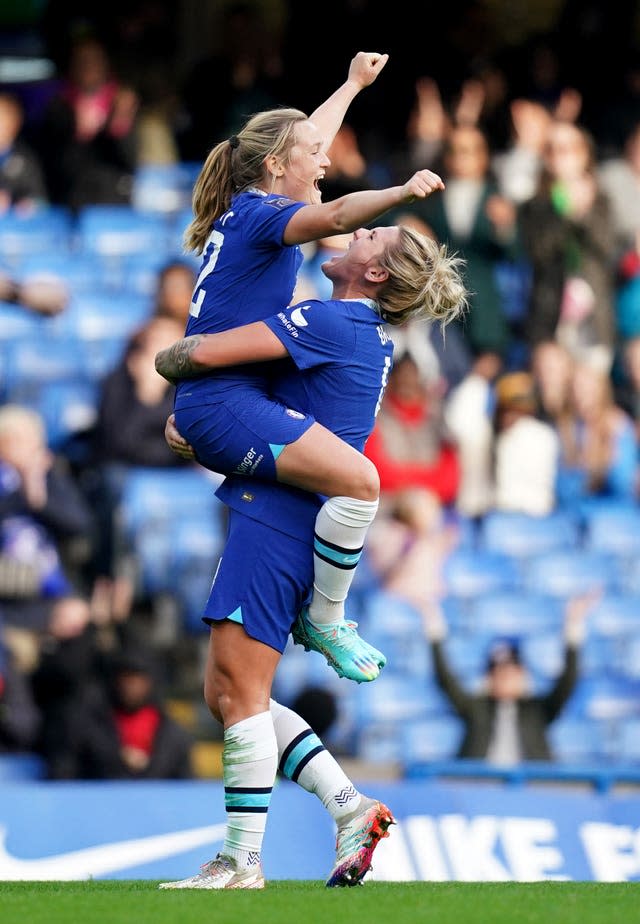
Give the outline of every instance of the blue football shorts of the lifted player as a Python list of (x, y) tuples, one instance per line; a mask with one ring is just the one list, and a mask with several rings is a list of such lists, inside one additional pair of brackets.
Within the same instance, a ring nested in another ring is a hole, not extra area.
[(249, 475), (276, 481), (276, 459), (315, 423), (311, 414), (288, 408), (267, 395), (180, 408), (176, 426), (193, 446), (198, 462), (221, 475)]

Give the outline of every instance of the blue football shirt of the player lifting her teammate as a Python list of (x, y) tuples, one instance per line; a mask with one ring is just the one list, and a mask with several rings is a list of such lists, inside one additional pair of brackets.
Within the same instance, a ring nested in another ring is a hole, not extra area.
[[(362, 451), (393, 363), (393, 342), (374, 303), (311, 300), (265, 323), (297, 367), (272, 383), (274, 397)], [(323, 501), (318, 495), (236, 476), (217, 494), (229, 507), (311, 544)]]

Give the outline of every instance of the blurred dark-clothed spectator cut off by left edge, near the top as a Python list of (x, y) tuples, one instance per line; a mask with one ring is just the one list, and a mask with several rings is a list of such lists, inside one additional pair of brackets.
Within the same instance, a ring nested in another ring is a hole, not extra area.
[(35, 151), (20, 137), (22, 106), (17, 97), (0, 93), (0, 214), (21, 213), (47, 204), (47, 190)]

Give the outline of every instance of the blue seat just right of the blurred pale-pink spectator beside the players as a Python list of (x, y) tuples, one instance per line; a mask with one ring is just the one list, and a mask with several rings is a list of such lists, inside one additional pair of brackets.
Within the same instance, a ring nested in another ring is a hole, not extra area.
[(509, 555), (462, 548), (446, 559), (443, 581), (447, 595), (471, 600), (489, 591), (517, 587), (520, 573)]

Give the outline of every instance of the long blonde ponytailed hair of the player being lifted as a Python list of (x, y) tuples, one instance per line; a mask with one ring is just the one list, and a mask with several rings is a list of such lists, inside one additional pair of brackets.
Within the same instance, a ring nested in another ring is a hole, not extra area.
[(296, 125), (307, 119), (299, 109), (267, 109), (209, 152), (193, 187), (194, 218), (184, 234), (185, 250), (202, 253), (211, 225), (227, 211), (231, 197), (264, 181), (267, 157), (287, 160)]

